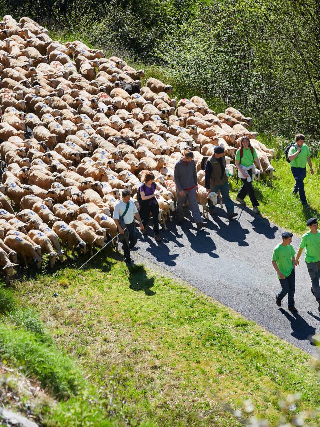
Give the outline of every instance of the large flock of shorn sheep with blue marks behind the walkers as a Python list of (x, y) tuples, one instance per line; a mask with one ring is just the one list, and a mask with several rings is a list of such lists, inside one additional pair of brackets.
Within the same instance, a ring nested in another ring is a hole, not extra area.
[[(114, 205), (136, 194), (147, 170), (161, 188), (165, 227), (174, 211), (175, 162), (194, 151), (198, 202), (206, 211), (203, 156), (222, 145), (230, 163), (248, 135), (263, 171), (273, 151), (234, 108), (215, 114), (200, 97), (172, 99), (172, 87), (80, 41), (53, 42), (33, 20), (0, 22), (0, 265), (9, 278), (20, 260), (41, 268), (66, 247), (92, 254), (117, 234)], [(136, 197), (136, 196), (135, 196)]]

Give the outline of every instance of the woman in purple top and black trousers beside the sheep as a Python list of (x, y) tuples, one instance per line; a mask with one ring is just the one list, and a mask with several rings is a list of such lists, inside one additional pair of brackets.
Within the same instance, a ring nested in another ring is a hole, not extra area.
[(144, 233), (146, 233), (150, 212), (152, 213), (154, 239), (155, 241), (161, 241), (159, 236), (159, 205), (156, 201), (158, 195), (154, 194), (155, 190), (159, 190), (160, 188), (156, 185), (154, 179), (153, 173), (146, 173), (144, 184), (142, 184), (138, 190), (138, 202), (140, 205), (139, 214), (144, 225)]

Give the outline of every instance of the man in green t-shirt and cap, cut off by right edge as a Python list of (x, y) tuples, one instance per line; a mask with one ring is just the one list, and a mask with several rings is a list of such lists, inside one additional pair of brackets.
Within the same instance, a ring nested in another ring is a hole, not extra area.
[(311, 292), (315, 296), (320, 311), (320, 231), (317, 218), (311, 218), (306, 222), (310, 230), (303, 234), (300, 249), (295, 258), (295, 265), (299, 265), (299, 259), (305, 249), (305, 262), (311, 278)]

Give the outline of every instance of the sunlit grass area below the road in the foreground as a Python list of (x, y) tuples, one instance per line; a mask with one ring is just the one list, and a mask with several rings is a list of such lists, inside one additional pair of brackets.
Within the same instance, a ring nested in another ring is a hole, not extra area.
[(77, 276), (74, 267), (16, 282), (14, 295), (37, 307), (62, 354), (89, 376), (45, 425), (238, 425), (225, 405), (246, 399), (275, 425), (289, 393), (301, 393), (301, 411), (319, 404), (310, 356), (143, 266), (128, 271), (108, 257)]

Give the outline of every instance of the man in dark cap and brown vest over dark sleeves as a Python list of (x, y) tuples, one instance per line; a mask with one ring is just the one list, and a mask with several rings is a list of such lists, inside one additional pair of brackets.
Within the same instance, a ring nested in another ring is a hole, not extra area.
[[(229, 183), (225, 173), (225, 166), (224, 148), (217, 145), (214, 147), (214, 154), (208, 158), (205, 165), (205, 188), (207, 190), (207, 195), (209, 195), (210, 192), (217, 193), (219, 190), (221, 191), (222, 200), (228, 212), (228, 219), (232, 219), (237, 216), (237, 213), (234, 213), (234, 204), (230, 199)], [(212, 211), (213, 209), (214, 206), (210, 206), (210, 210)]]

